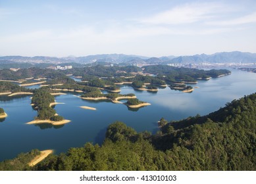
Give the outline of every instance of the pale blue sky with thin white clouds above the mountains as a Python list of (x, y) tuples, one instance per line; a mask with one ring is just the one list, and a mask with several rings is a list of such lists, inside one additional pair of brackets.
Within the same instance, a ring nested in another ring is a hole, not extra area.
[(0, 0), (0, 56), (256, 53), (256, 1)]

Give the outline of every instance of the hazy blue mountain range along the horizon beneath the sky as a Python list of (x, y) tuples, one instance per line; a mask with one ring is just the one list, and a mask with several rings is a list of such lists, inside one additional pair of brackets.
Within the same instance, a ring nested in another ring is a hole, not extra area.
[(29, 62), (29, 63), (66, 63), (77, 62), (80, 64), (88, 64), (92, 62), (110, 62), (120, 65), (130, 64), (170, 64), (170, 63), (255, 63), (256, 53), (243, 53), (240, 51), (215, 53), (213, 55), (192, 55), (192, 56), (168, 56), (168, 57), (143, 57), (137, 55), (123, 55), (123, 54), (107, 54), (107, 55), (88, 55), (86, 57), (21, 57), (21, 56), (5, 56), (0, 57), (1, 64), (13, 62)]

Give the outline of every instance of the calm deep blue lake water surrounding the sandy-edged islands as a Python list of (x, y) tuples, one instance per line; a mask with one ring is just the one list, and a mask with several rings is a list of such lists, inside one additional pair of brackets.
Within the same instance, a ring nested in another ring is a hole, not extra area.
[[(160, 89), (157, 93), (134, 91), (122, 86), (122, 94), (135, 93), (138, 99), (151, 103), (138, 111), (128, 110), (124, 104), (90, 102), (75, 97), (74, 93), (55, 97), (55, 110), (65, 119), (71, 120), (64, 126), (27, 125), (36, 116), (30, 106), (31, 96), (7, 98), (0, 96), (0, 106), (8, 117), (0, 122), (0, 160), (13, 158), (20, 152), (32, 149), (54, 149), (65, 152), (70, 147), (82, 147), (86, 142), (102, 143), (109, 124), (122, 121), (136, 131), (155, 133), (157, 121), (180, 120), (196, 114), (205, 115), (218, 110), (227, 102), (256, 92), (256, 74), (233, 70), (230, 76), (199, 81), (193, 93), (182, 93)], [(86, 110), (79, 106), (92, 106), (97, 110)]]

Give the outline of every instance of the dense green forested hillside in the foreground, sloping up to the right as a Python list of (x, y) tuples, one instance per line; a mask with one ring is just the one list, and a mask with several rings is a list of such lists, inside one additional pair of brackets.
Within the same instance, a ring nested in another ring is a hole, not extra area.
[(256, 170), (255, 106), (256, 93), (207, 116), (170, 123), (161, 118), (162, 131), (156, 135), (115, 122), (103, 145), (86, 143), (59, 156), (52, 154), (30, 169)]

